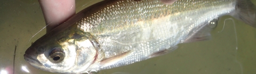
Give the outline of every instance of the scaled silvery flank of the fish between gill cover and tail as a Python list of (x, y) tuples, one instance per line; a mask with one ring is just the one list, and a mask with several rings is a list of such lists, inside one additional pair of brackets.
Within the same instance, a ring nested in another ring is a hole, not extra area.
[[(145, 3), (145, 2), (149, 2), (149, 3)], [(101, 11), (106, 11), (109, 14), (108, 15), (102, 14), (102, 12), (98, 11), (97, 12), (98, 14), (96, 15), (103, 17), (100, 20), (105, 22), (97, 23), (96, 25), (102, 26), (102, 27), (95, 27), (95, 28), (92, 27), (90, 28), (92, 30), (88, 32), (91, 32), (92, 34), (94, 34), (94, 36), (101, 36), (100, 37), (101, 39), (98, 39), (98, 40), (100, 42), (101, 47), (105, 47), (105, 48), (102, 48), (103, 50), (102, 52), (112, 52), (112, 53), (105, 53), (105, 55), (108, 55), (108, 57), (106, 58), (114, 57), (118, 55), (118, 53), (122, 54), (123, 52), (129, 51), (129, 50), (134, 51), (133, 52), (134, 54), (127, 56), (126, 58), (124, 58), (125, 60), (120, 60), (119, 62), (111, 66), (102, 67), (101, 69), (109, 69), (109, 68), (124, 66), (126, 64), (131, 64), (133, 62), (145, 60), (153, 52), (168, 49), (180, 43), (182, 39), (186, 38), (186, 35), (193, 29), (193, 27), (200, 26), (201, 23), (205, 21), (210, 21), (213, 18), (217, 18), (223, 14), (228, 14), (230, 11), (235, 10), (234, 0), (208, 1), (203, 3), (202, 2), (203, 1), (196, 1), (196, 2), (177, 1), (173, 5), (164, 5), (164, 4), (161, 4), (159, 1), (150, 1), (150, 0), (139, 1), (139, 2), (132, 1), (132, 3), (129, 3), (129, 1), (119, 1), (118, 3), (115, 3), (113, 5), (111, 4), (111, 5), (108, 5), (108, 7), (102, 8)], [(223, 4), (225, 3), (229, 3), (229, 4), (223, 5), (221, 2), (223, 2)], [(190, 4), (194, 4), (194, 5), (191, 6)], [(212, 5), (220, 5), (220, 6), (211, 7)], [(121, 8), (115, 8), (116, 6), (118, 7), (120, 6)], [(206, 7), (203, 7), (203, 6), (206, 6)], [(221, 7), (226, 7), (225, 9), (222, 8), (226, 12), (219, 11), (219, 8)], [(179, 10), (180, 8), (185, 8), (185, 9)], [(119, 10), (119, 9), (122, 9), (122, 10)], [(146, 10), (146, 11), (141, 12), (143, 10)], [(193, 12), (190, 12), (191, 10), (198, 10), (198, 11), (197, 13), (193, 13)], [(221, 12), (221, 14), (215, 10)], [(119, 14), (111, 13), (113, 11), (117, 11), (119, 12)], [(166, 17), (167, 15), (172, 15), (172, 17)], [(194, 15), (194, 16), (191, 16), (191, 15)], [(200, 15), (205, 15), (205, 17), (198, 18), (198, 16)], [(124, 17), (121, 17), (121, 16), (124, 16)], [(160, 17), (165, 17), (166, 19), (157, 20)], [(181, 19), (183, 19), (184, 17), (191, 17), (190, 18), (191, 20), (188, 20), (188, 21), (195, 21), (195, 22), (185, 22), (185, 23), (181, 22), (183, 21)], [(122, 21), (116, 21), (116, 19), (121, 19)], [(85, 19), (84, 23), (88, 23), (87, 21), (97, 22), (98, 20)], [(161, 22), (158, 22), (158, 21), (161, 21)], [(173, 21), (173, 22), (168, 22), (168, 21)], [(158, 24), (154, 22), (157, 22)], [(95, 24), (95, 23), (90, 23), (90, 24)], [(78, 24), (78, 25), (83, 26), (83, 25), (90, 25), (90, 24)], [(147, 40), (144, 40), (143, 35), (147, 36), (148, 34), (143, 33), (142, 32), (143, 29), (146, 29), (148, 27), (151, 28), (153, 26), (156, 28), (147, 29), (146, 31), (153, 31), (151, 32), (150, 35), (152, 36), (153, 34), (155, 36), (154, 37), (150, 36), (150, 39), (146, 38)], [(167, 31), (168, 29), (165, 29), (164, 27), (167, 27), (172, 30)], [(187, 30), (186, 31), (181, 30), (178, 27), (181, 27)], [(81, 28), (81, 27), (78, 27), (78, 28), (80, 28), (83, 31), (87, 30), (86, 28)], [(104, 28), (104, 29), (101, 29), (101, 28)], [(121, 34), (116, 32), (121, 32)], [(130, 34), (127, 34), (127, 33), (130, 33)], [(174, 33), (174, 35), (172, 35), (171, 33)], [(111, 36), (111, 38), (109, 38), (109, 36)], [(120, 37), (125, 37), (125, 38), (122, 39)], [(161, 39), (158, 39), (158, 38), (161, 38)], [(152, 49), (143, 47), (143, 44), (146, 44), (148, 42), (159, 43), (159, 44), (153, 45), (152, 47), (154, 48)], [(125, 47), (129, 45), (131, 45), (132, 48), (125, 49)], [(156, 50), (156, 49), (159, 49), (159, 50)], [(146, 51), (146, 52), (142, 54), (137, 54), (143, 51)]]

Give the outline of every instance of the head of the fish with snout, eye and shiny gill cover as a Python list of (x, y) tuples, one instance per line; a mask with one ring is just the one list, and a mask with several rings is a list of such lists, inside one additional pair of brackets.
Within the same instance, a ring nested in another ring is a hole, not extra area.
[(88, 36), (75, 32), (45, 34), (25, 52), (31, 66), (50, 72), (81, 73), (95, 62), (97, 50)]

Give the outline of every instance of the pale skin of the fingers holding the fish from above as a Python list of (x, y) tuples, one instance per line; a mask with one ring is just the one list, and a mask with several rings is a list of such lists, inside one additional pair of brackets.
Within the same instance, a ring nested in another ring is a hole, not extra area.
[[(171, 5), (178, 0), (160, 0), (164, 4)], [(46, 23), (46, 33), (49, 33), (58, 25), (67, 21), (76, 14), (75, 0), (38, 0), (41, 5), (44, 20)]]

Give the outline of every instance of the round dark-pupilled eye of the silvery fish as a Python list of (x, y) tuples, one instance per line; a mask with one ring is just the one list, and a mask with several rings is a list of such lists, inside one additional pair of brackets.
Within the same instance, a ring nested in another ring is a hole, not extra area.
[(58, 63), (58, 62), (61, 62), (64, 59), (65, 54), (60, 48), (53, 48), (52, 51), (49, 54), (49, 57), (50, 57), (49, 60), (51, 62)]

